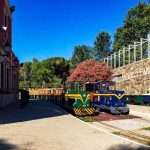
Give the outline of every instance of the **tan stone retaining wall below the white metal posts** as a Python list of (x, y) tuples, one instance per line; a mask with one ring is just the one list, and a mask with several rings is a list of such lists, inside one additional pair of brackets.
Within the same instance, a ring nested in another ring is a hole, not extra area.
[(127, 94), (150, 93), (150, 59), (141, 60), (113, 70), (113, 88)]

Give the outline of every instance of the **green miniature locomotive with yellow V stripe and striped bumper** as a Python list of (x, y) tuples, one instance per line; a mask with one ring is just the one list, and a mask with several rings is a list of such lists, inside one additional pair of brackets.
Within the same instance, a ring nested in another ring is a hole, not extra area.
[(79, 83), (67, 83), (65, 86), (64, 106), (72, 110), (77, 116), (87, 116), (96, 114), (96, 110), (91, 105), (90, 93)]

